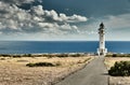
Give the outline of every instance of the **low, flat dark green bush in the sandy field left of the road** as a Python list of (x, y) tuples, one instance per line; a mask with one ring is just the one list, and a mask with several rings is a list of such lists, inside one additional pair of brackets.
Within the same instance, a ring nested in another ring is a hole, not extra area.
[(51, 62), (36, 62), (36, 63), (27, 63), (27, 67), (54, 67)]

